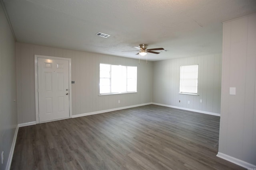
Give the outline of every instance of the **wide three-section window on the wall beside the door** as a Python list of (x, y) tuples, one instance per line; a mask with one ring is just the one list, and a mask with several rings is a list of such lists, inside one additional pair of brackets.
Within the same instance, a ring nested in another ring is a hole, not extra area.
[(137, 67), (100, 63), (100, 94), (137, 92)]

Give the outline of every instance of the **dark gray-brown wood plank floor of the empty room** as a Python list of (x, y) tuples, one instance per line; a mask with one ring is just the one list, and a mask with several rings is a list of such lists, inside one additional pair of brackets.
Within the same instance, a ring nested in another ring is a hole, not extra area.
[(220, 117), (147, 105), (20, 127), (12, 170), (238, 170)]

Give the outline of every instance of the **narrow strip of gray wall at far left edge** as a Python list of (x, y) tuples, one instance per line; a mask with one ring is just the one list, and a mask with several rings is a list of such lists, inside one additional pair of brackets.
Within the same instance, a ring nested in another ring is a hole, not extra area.
[(0, 154), (4, 170), (17, 127), (15, 41), (0, 3)]

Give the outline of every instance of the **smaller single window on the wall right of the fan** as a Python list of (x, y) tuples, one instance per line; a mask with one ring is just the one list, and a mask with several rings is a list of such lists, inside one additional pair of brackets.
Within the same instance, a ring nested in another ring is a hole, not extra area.
[(198, 64), (180, 66), (180, 93), (197, 94)]

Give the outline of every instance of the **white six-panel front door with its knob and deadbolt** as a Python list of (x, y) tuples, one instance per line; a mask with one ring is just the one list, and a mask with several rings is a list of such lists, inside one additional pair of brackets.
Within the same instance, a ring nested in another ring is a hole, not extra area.
[(68, 118), (69, 110), (69, 61), (38, 58), (39, 122)]

